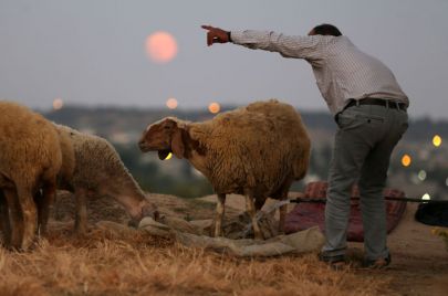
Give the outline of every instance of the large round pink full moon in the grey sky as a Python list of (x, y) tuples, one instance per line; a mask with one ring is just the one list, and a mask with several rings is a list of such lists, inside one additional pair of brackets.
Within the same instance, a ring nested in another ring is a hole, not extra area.
[(155, 32), (146, 38), (146, 54), (157, 63), (170, 62), (177, 55), (177, 42), (167, 32)]

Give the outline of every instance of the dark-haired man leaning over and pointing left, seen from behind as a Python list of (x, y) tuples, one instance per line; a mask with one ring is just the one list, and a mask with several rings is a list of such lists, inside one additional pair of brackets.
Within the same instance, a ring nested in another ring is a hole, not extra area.
[(390, 154), (407, 129), (409, 105), (394, 74), (381, 61), (360, 51), (331, 24), (321, 24), (306, 36), (275, 32), (225, 31), (202, 25), (207, 44), (232, 42), (253, 50), (303, 59), (313, 68), (319, 89), (338, 130), (329, 171), (325, 207), (326, 242), (320, 260), (341, 267), (345, 262), (350, 197), (353, 184), (361, 193), (364, 226), (364, 265), (389, 264), (383, 189)]

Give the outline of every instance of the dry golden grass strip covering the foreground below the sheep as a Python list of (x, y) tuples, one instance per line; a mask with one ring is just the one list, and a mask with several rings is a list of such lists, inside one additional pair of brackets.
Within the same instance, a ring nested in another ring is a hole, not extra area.
[(139, 232), (116, 236), (69, 226), (33, 251), (0, 249), (1, 295), (378, 295), (387, 283), (334, 272), (315, 254), (241, 260)]

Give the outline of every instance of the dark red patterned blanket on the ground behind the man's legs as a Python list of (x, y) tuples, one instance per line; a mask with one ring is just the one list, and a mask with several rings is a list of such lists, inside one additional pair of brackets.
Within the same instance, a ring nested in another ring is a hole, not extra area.
[[(304, 199), (325, 199), (326, 197), (326, 182), (311, 182), (306, 186)], [(386, 188), (383, 192), (384, 197), (404, 198), (405, 193), (400, 190)], [(357, 187), (352, 190), (352, 197), (360, 197)], [(363, 242), (363, 222), (361, 219), (360, 200), (352, 200), (351, 215), (348, 221), (347, 240), (352, 242)], [(388, 201), (386, 200), (387, 212), (387, 233), (389, 233), (399, 222), (406, 202), (404, 201)], [(288, 213), (285, 232), (293, 233), (311, 226), (319, 225), (324, 231), (325, 220), (325, 203), (315, 202), (301, 202)]]

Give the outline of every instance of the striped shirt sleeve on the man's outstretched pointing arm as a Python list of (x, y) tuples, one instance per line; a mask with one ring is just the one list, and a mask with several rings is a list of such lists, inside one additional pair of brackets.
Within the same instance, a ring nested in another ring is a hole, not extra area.
[(293, 36), (269, 31), (231, 31), (231, 41), (252, 50), (278, 52), (284, 57), (304, 59), (320, 64), (325, 59), (329, 36)]

